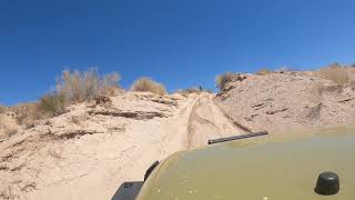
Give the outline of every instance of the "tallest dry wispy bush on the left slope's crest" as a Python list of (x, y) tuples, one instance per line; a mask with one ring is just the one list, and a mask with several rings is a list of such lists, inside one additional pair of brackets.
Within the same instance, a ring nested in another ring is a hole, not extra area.
[(120, 78), (115, 72), (100, 77), (93, 68), (84, 72), (64, 70), (58, 79), (57, 94), (67, 102), (82, 102), (103, 94), (114, 94)]

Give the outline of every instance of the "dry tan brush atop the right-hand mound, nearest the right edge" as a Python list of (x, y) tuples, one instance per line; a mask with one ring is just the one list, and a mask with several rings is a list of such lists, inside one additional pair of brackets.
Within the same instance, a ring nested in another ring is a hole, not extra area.
[(346, 68), (336, 64), (327, 68), (322, 68), (318, 71), (314, 71), (313, 74), (322, 79), (332, 80), (338, 86), (344, 86), (349, 82), (349, 77)]

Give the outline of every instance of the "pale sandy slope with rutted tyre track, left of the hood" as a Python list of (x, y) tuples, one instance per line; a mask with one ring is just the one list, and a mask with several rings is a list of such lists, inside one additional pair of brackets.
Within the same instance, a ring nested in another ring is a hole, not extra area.
[(0, 143), (0, 199), (110, 199), (155, 160), (243, 131), (213, 94), (128, 92), (82, 103)]

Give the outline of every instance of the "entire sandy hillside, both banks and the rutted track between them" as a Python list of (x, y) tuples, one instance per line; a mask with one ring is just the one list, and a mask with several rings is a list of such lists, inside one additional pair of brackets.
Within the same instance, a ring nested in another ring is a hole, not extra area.
[(2, 110), (0, 199), (110, 199), (123, 181), (142, 180), (155, 160), (211, 138), (355, 123), (351, 79), (242, 76), (217, 94), (124, 92), (27, 127)]

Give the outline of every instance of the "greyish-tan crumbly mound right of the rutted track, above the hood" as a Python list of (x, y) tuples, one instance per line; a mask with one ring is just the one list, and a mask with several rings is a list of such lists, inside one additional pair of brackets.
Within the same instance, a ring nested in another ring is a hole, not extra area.
[(253, 131), (355, 123), (355, 84), (337, 86), (312, 72), (246, 74), (226, 86), (215, 102)]

